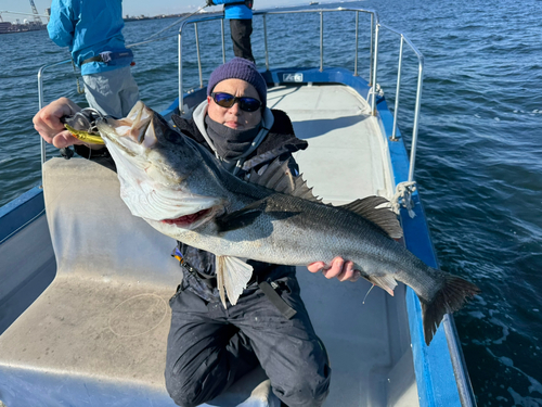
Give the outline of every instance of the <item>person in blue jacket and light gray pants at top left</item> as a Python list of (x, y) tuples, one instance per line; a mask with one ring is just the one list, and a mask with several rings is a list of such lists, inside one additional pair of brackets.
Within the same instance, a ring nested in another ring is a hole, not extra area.
[(57, 46), (69, 47), (89, 105), (114, 117), (125, 117), (139, 100), (124, 26), (121, 0), (53, 0), (47, 25)]

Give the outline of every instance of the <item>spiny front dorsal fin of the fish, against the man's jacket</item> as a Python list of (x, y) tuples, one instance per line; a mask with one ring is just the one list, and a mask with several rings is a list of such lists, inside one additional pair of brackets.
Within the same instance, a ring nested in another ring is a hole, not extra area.
[(248, 182), (286, 195), (302, 198), (304, 200), (314, 202), (321, 201), (321, 199), (314, 196), (312, 188), (307, 186), (307, 182), (302, 179), (302, 174), (292, 174), (287, 160), (283, 162), (281, 162), (280, 158), (273, 160), (262, 174), (258, 174), (253, 169)]

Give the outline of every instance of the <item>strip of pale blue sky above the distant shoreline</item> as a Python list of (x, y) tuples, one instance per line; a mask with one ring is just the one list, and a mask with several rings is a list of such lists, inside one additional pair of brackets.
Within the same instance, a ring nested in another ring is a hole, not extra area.
[[(302, 3), (301, 0), (255, 0), (255, 9), (274, 8), (275, 5), (285, 7), (293, 3)], [(308, 1), (307, 1), (308, 2)], [(34, 0), (36, 9), (39, 14), (46, 14), (46, 9), (51, 7), (51, 0)], [(122, 14), (129, 15), (159, 15), (159, 14), (176, 14), (194, 12), (199, 7), (206, 3), (205, 0), (125, 0), (122, 1)], [(210, 11), (222, 10), (222, 7), (215, 7), (208, 9)], [(31, 18), (28, 15), (17, 15), (3, 13), (3, 11), (16, 11), (21, 13), (31, 13), (29, 0), (0, 0), (0, 12), (4, 22), (15, 22), (20, 20), (23, 22), (25, 18)], [(43, 21), (43, 23), (46, 23)]]

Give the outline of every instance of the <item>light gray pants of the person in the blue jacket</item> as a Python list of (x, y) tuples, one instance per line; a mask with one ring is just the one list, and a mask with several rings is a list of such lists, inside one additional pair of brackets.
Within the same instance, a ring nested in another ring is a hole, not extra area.
[(117, 118), (126, 117), (139, 101), (139, 88), (130, 66), (83, 75), (82, 80), (90, 107), (103, 114)]

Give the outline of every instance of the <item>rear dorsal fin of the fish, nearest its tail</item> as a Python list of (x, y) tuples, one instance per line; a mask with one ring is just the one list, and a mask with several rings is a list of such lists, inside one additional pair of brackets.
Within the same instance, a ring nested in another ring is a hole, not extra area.
[(376, 207), (384, 203), (389, 203), (389, 201), (383, 196), (367, 196), (338, 207), (363, 216), (391, 239), (400, 239), (403, 230), (397, 215), (389, 207)]

